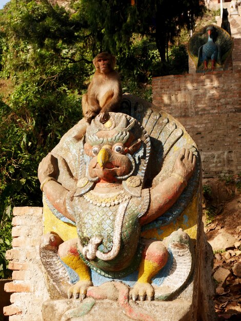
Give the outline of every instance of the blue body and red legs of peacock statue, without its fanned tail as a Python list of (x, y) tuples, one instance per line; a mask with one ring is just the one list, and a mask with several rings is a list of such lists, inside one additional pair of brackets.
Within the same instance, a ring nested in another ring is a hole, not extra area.
[(211, 70), (214, 71), (215, 62), (217, 61), (217, 63), (220, 64), (220, 47), (213, 41), (213, 33), (215, 32), (215, 28), (213, 26), (209, 26), (206, 31), (208, 32), (208, 41), (198, 49), (197, 67), (204, 63), (204, 71), (206, 71), (208, 69), (208, 61), (211, 59)]

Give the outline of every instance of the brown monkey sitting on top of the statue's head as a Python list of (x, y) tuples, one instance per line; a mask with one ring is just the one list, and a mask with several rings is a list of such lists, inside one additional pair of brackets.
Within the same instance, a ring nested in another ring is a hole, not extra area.
[(119, 74), (114, 70), (115, 56), (108, 52), (99, 53), (94, 59), (95, 73), (82, 98), (82, 109), (88, 123), (98, 115), (101, 123), (108, 120), (108, 112), (116, 111), (122, 99)]

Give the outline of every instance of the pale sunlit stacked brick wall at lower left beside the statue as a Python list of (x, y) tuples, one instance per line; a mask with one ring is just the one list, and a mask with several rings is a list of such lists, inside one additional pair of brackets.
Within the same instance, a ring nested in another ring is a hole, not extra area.
[(6, 253), (13, 281), (4, 288), (12, 294), (4, 314), (9, 315), (9, 321), (41, 321), (42, 303), (49, 298), (38, 252), (43, 208), (17, 207), (13, 215), (12, 249)]

